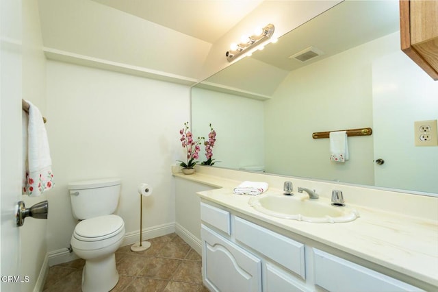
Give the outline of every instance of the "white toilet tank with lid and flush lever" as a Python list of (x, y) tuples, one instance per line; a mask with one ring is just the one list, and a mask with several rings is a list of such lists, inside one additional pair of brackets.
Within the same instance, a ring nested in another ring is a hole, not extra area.
[(88, 219), (116, 211), (120, 196), (120, 179), (83, 180), (68, 184), (73, 217)]

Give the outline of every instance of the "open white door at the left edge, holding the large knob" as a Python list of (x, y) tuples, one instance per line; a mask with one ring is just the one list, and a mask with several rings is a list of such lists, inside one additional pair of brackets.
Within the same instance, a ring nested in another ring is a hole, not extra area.
[(21, 0), (0, 1), (0, 36), (1, 291), (14, 292), (21, 291), (16, 281), (25, 276), (20, 274), (20, 230), (15, 222), (22, 169)]

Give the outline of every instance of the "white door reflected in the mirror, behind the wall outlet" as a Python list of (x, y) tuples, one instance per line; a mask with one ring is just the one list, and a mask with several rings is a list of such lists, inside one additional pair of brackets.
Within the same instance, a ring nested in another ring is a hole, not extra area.
[(438, 147), (415, 147), (413, 132), (438, 118), (438, 82), (398, 51), (373, 63), (372, 84), (375, 185), (438, 193)]

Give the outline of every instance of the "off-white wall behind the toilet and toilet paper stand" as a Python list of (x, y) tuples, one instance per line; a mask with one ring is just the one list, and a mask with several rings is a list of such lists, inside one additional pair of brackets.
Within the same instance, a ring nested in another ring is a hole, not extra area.
[(143, 200), (143, 228), (175, 223), (170, 165), (183, 158), (179, 129), (189, 112), (188, 86), (48, 61), (47, 130), (56, 182), (49, 195), (49, 251), (70, 243), (75, 219), (66, 186), (75, 180), (121, 178), (117, 214), (127, 232), (140, 229), (140, 182), (154, 188)]

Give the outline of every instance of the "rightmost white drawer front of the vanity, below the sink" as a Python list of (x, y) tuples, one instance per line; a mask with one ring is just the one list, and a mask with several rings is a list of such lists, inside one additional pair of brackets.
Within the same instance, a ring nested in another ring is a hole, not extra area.
[(313, 249), (315, 284), (329, 291), (424, 291), (343, 258)]

